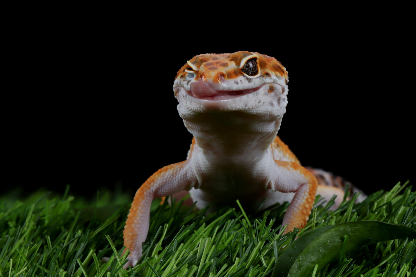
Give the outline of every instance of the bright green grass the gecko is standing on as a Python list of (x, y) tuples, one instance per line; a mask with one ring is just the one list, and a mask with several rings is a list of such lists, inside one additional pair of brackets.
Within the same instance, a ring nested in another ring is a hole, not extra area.
[[(68, 190), (59, 197), (34, 193), (21, 201), (2, 195), (0, 276), (284, 276), (279, 263), (288, 262), (282, 259), (299, 262), (309, 257), (305, 256), (308, 249), (303, 256), (287, 255), (294, 251), (297, 241), (301, 242), (295, 237), (311, 236), (310, 231), (324, 230), (322, 226), (361, 220), (416, 226), (416, 193), (406, 184), (374, 193), (359, 204), (344, 201), (334, 212), (329, 210), (331, 202), (322, 204), (317, 199), (307, 227), (286, 235), (282, 235), (280, 223), (287, 203), (254, 215), (246, 215), (240, 208), (225, 208), (205, 216), (205, 210), (155, 202), (143, 257), (126, 271), (119, 254), (131, 203), (128, 196), (112, 197), (106, 192), (90, 202), (69, 196)], [(336, 260), (322, 266), (313, 264), (310, 275), (416, 276), (416, 241), (401, 238), (378, 242), (382, 230), (377, 228), (367, 232), (360, 229), (370, 237), (374, 234), (374, 239), (356, 245), (352, 233), (342, 233), (341, 251), (330, 253)], [(399, 237), (400, 232), (392, 235)], [(318, 261), (329, 257), (322, 249), (312, 248), (320, 255)], [(107, 264), (101, 262), (102, 257), (110, 256)], [(297, 276), (296, 272), (290, 274)]]

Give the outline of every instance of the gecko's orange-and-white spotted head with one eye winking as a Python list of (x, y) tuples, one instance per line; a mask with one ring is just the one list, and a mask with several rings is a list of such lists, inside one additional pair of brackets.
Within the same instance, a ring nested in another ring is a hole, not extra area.
[(239, 51), (201, 54), (176, 75), (173, 92), (183, 119), (240, 111), (277, 120), (287, 104), (287, 71), (275, 58)]

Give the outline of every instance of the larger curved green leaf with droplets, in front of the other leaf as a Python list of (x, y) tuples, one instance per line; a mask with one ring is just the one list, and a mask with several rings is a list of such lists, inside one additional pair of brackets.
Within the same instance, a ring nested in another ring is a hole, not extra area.
[[(345, 236), (348, 236), (348, 240), (344, 243)], [(342, 223), (323, 232), (310, 242), (297, 257), (287, 276), (310, 276), (315, 265), (320, 270), (327, 263), (339, 260), (342, 252), (351, 252), (365, 244), (406, 237), (415, 238), (416, 231), (404, 225), (376, 220)]]

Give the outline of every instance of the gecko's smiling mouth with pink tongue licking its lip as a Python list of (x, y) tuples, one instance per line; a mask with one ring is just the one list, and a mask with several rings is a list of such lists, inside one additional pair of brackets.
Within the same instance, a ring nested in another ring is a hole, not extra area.
[(203, 100), (226, 100), (256, 92), (262, 86), (263, 85), (251, 89), (240, 90), (215, 90), (207, 82), (199, 79), (197, 82), (191, 84), (191, 90), (186, 90), (186, 93), (192, 97)]

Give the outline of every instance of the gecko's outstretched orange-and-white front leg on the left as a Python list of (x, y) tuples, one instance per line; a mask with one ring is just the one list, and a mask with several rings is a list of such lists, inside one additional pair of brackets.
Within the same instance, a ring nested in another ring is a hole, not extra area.
[(196, 184), (196, 176), (188, 161), (159, 169), (137, 190), (123, 232), (124, 246), (130, 251), (127, 257), (129, 261), (124, 265), (125, 269), (129, 266), (134, 267), (141, 257), (142, 244), (149, 231), (152, 200), (173, 195), (181, 190), (190, 190)]

